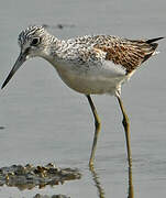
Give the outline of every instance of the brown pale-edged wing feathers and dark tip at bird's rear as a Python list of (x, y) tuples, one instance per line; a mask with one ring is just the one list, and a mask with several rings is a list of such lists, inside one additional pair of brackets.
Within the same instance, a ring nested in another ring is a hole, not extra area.
[(107, 45), (95, 45), (95, 48), (106, 52), (107, 61), (112, 61), (115, 65), (122, 65), (129, 74), (153, 55), (158, 45), (153, 42), (159, 38), (147, 41), (115, 40), (114, 42), (111, 40)]

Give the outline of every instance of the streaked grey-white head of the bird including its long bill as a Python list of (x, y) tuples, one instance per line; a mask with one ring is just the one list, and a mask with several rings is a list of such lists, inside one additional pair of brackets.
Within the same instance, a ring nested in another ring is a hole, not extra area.
[(48, 53), (49, 43), (54, 37), (47, 33), (43, 26), (29, 26), (19, 34), (18, 43), (20, 46), (20, 55), (4, 80), (1, 88), (3, 88), (15, 72), (23, 65), (23, 63), (35, 56), (46, 56)]

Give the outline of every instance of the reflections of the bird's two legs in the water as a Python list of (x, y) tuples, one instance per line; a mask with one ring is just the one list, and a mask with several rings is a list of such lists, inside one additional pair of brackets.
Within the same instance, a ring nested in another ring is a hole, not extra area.
[[(102, 184), (100, 183), (100, 177), (98, 173), (96, 172), (93, 166), (89, 166), (89, 170), (91, 172), (92, 179), (95, 182), (95, 186), (98, 190), (98, 197), (99, 198), (106, 198), (106, 193), (103, 189)], [(129, 191), (128, 191), (128, 198), (134, 198), (134, 188), (133, 188), (133, 178), (132, 178), (132, 167), (129, 167)]]

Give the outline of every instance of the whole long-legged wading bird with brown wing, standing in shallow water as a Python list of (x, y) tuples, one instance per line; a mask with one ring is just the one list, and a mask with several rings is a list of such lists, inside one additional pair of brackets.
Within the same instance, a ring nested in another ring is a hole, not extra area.
[(90, 95), (115, 96), (123, 114), (128, 161), (131, 166), (130, 124), (121, 100), (121, 85), (131, 78), (142, 63), (156, 54), (158, 44), (155, 42), (162, 38), (128, 40), (111, 35), (86, 35), (64, 41), (51, 35), (43, 26), (29, 26), (19, 35), (21, 53), (2, 88), (26, 59), (40, 56), (48, 61), (63, 81), (84, 94), (89, 101), (95, 118), (90, 166), (93, 164), (100, 131), (100, 120)]

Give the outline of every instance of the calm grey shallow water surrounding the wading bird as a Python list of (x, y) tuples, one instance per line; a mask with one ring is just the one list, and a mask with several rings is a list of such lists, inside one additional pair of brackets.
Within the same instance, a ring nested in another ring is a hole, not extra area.
[[(131, 38), (165, 36), (165, 8), (163, 0), (2, 1), (1, 84), (19, 55), (18, 34), (29, 24), (47, 24), (53, 34), (65, 38), (91, 33)], [(57, 24), (66, 26), (58, 29)], [(131, 118), (134, 197), (156, 198), (166, 194), (166, 41), (159, 44), (162, 53), (146, 62), (122, 90)], [(54, 162), (60, 167), (79, 168), (82, 177), (53, 188), (20, 191), (0, 187), (0, 197), (128, 197), (126, 151), (118, 102), (109, 96), (93, 97), (102, 129), (95, 172), (90, 172), (90, 108), (86, 98), (67, 88), (48, 65), (40, 58), (26, 62), (0, 92), (0, 167)], [(99, 195), (100, 189), (104, 195)]]

